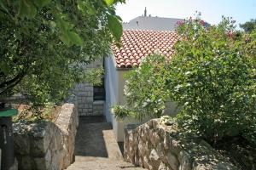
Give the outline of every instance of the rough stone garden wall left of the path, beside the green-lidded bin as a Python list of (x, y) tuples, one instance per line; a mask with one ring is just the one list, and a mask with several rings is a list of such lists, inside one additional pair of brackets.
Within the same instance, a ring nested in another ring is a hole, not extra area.
[(76, 105), (66, 103), (55, 122), (15, 123), (15, 156), (19, 169), (61, 170), (73, 163), (78, 118)]

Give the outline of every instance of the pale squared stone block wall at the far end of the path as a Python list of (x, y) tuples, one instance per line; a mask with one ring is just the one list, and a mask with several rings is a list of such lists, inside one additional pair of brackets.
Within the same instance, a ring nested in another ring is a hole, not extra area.
[[(103, 60), (98, 59), (90, 65), (84, 65), (84, 69), (100, 68), (102, 67)], [(93, 84), (82, 82), (73, 88), (73, 94), (78, 99), (79, 116), (99, 116), (103, 115), (104, 101), (94, 101), (93, 99)], [(102, 103), (102, 104), (99, 104)]]

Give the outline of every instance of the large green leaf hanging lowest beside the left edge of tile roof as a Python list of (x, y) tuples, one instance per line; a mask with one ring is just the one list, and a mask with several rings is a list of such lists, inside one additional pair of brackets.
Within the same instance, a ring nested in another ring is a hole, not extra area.
[(123, 34), (123, 26), (118, 16), (108, 15), (108, 28), (111, 31), (114, 39), (120, 42)]

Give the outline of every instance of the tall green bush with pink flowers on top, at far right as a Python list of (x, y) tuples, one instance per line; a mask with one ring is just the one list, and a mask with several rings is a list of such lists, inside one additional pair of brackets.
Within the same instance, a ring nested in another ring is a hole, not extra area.
[(170, 91), (183, 107), (179, 125), (210, 141), (247, 132), (256, 116), (255, 69), (233, 22), (186, 20), (172, 57)]

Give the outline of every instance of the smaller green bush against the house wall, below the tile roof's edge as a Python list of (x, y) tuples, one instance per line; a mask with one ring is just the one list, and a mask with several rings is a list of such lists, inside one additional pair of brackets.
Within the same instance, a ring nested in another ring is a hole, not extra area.
[(125, 75), (125, 105), (114, 106), (113, 113), (119, 119), (126, 116), (143, 120), (160, 117), (169, 99), (167, 89), (168, 67), (166, 58), (153, 54), (143, 59), (141, 65)]

